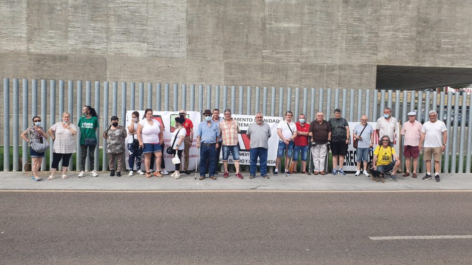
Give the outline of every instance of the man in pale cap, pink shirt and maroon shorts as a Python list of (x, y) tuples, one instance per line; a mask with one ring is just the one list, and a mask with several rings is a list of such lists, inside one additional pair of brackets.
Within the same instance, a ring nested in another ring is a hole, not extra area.
[(413, 178), (416, 178), (419, 157), (419, 139), (421, 137), (421, 123), (416, 121), (416, 112), (408, 112), (408, 122), (401, 127), (400, 134), (404, 136), (403, 155), (405, 156), (406, 172), (403, 177), (410, 175), (411, 160), (413, 160)]

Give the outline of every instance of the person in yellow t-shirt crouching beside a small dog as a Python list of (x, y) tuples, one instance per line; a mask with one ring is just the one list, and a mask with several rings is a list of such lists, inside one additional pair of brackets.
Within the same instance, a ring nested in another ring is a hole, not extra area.
[(389, 136), (382, 136), (381, 141), (382, 145), (377, 146), (374, 150), (374, 159), (372, 161), (374, 170), (386, 172), (393, 169), (393, 174), (390, 179), (396, 181), (395, 172), (400, 166), (400, 158), (396, 155), (395, 149), (390, 146)]

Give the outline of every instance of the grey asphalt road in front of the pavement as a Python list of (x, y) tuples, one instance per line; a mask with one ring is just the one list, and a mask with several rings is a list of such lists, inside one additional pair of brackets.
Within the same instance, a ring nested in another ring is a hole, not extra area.
[(470, 264), (471, 192), (0, 192), (1, 264)]

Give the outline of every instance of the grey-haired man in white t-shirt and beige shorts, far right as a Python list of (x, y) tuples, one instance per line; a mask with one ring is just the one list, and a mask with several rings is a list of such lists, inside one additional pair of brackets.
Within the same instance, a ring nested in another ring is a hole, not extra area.
[[(424, 147), (423, 159), (426, 162), (426, 175), (423, 180), (430, 180), (431, 177), (431, 159), (434, 159), (434, 179), (440, 182), (439, 171), (441, 171), (439, 162), (444, 150), (446, 150), (447, 128), (442, 121), (438, 121), (436, 111), (429, 111), (429, 122), (425, 122), (421, 128), (421, 138), (419, 140), (419, 150)], [(424, 144), (424, 146), (423, 146)]]

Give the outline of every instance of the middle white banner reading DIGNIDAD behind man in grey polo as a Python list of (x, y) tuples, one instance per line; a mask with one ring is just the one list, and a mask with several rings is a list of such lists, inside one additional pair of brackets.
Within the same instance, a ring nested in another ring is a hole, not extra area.
[[(250, 124), (255, 122), (255, 116), (252, 115), (237, 115), (233, 114), (231, 116), (234, 120), (239, 123), (239, 129), (241, 133), (238, 135), (238, 144), (239, 144), (239, 163), (241, 165), (250, 165), (249, 159), (249, 139), (247, 138), (246, 131)], [(223, 117), (220, 117), (224, 119)], [(282, 120), (281, 117), (271, 117), (264, 116), (264, 122), (267, 123), (270, 127), (271, 137), (269, 138), (269, 150), (267, 154), (267, 166), (275, 166), (275, 158), (277, 157), (277, 146), (278, 139), (277, 136), (277, 125)], [(223, 163), (223, 150), (220, 153), (220, 163)], [(230, 155), (228, 158), (229, 164), (234, 164), (233, 156)], [(259, 165), (259, 161), (257, 161)]]

